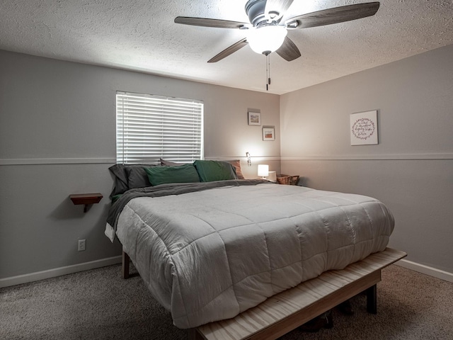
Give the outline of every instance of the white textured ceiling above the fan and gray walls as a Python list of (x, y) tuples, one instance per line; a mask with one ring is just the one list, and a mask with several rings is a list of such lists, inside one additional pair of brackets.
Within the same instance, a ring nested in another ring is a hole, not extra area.
[[(370, 0), (295, 0), (287, 17)], [(452, 0), (382, 0), (375, 16), (288, 33), (302, 57), (270, 55), (269, 92), (285, 94), (453, 43)], [(248, 22), (246, 0), (1, 0), (0, 50), (266, 91), (263, 55), (214, 55), (243, 31), (176, 16)]]

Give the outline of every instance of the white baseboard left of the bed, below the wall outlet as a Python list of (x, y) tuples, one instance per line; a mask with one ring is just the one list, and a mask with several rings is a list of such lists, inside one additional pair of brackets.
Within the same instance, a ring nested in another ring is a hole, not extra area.
[(12, 276), (11, 278), (0, 278), (0, 288), (44, 280), (45, 278), (55, 278), (57, 276), (78, 273), (79, 271), (88, 271), (90, 269), (111, 266), (117, 263), (121, 263), (121, 256), (109, 257), (108, 259), (101, 259), (85, 263), (78, 263), (72, 266), (49, 269), (47, 271), (37, 271), (36, 273)]

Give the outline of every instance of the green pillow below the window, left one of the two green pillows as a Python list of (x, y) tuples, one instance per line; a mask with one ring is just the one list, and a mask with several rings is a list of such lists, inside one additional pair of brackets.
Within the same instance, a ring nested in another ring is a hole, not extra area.
[(145, 168), (151, 186), (165, 183), (195, 183), (200, 182), (197, 170), (193, 164), (181, 166), (153, 166)]

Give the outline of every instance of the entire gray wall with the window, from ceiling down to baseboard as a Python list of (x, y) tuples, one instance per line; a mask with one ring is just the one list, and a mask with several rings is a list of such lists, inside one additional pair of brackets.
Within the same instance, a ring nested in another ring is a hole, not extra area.
[[(103, 234), (116, 91), (202, 100), (207, 159), (241, 157), (248, 178), (258, 163), (280, 172), (280, 134), (263, 142), (262, 127), (247, 124), (258, 109), (280, 131), (277, 95), (0, 51), (0, 280), (120, 255)], [(97, 192), (86, 213), (69, 200)]]

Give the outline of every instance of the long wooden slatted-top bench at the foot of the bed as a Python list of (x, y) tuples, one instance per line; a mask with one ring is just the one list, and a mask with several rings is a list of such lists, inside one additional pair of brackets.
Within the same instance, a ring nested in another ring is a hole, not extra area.
[(350, 297), (367, 292), (367, 310), (377, 312), (377, 283), (381, 270), (403, 259), (403, 251), (387, 248), (341, 271), (327, 271), (268, 298), (233, 319), (189, 329), (190, 340), (273, 340)]

